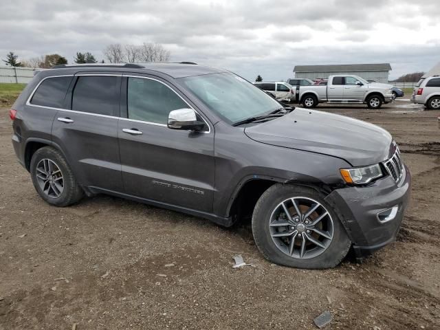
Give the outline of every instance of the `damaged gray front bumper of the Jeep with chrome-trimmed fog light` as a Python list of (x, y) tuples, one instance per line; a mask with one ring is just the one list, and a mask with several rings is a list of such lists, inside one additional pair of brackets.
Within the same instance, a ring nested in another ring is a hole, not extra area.
[(388, 175), (369, 186), (333, 190), (326, 197), (338, 212), (356, 256), (367, 256), (395, 241), (410, 190), (411, 175), (404, 166), (398, 182)]

